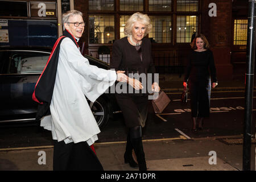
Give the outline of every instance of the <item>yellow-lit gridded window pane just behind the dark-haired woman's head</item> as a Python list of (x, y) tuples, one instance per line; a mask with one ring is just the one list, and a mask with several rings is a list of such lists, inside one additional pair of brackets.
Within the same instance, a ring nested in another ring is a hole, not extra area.
[(194, 32), (198, 32), (197, 16), (177, 16), (177, 43), (191, 43)]

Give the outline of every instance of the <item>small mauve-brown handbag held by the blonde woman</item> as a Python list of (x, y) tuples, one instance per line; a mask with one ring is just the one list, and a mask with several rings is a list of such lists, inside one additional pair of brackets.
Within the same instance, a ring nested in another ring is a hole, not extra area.
[(159, 92), (158, 98), (152, 100), (152, 106), (156, 114), (162, 113), (171, 102), (170, 98), (163, 91)]

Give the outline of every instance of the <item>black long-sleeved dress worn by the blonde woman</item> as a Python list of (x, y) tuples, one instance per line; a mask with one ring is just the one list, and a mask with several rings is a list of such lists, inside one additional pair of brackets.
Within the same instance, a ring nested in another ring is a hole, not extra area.
[[(127, 37), (116, 40), (113, 44), (110, 68), (114, 68), (116, 71), (125, 71), (126, 75), (129, 73), (154, 74), (155, 67), (152, 60), (150, 39), (143, 38), (141, 48), (139, 49), (132, 46), (128, 42)], [(152, 80), (152, 82), (154, 81)], [(128, 90), (134, 91), (130, 85), (127, 85), (127, 91)], [(115, 97), (117, 98), (117, 103), (122, 110), (126, 126), (134, 127), (141, 125), (144, 127), (147, 119), (148, 94), (142, 92), (127, 92), (116, 93)]]

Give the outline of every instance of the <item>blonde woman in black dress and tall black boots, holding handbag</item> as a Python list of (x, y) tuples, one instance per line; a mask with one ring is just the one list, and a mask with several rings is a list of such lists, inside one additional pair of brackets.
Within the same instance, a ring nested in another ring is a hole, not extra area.
[[(115, 70), (126, 71), (127, 76), (130, 73), (155, 73), (155, 67), (152, 60), (150, 39), (144, 38), (150, 31), (152, 25), (150, 18), (146, 14), (135, 13), (130, 16), (126, 22), (125, 38), (116, 40), (113, 44), (112, 61), (110, 67)], [(154, 76), (152, 76), (154, 78)], [(135, 80), (137, 81), (137, 80)], [(127, 86), (127, 91), (133, 90)], [(123, 90), (125, 87), (123, 87)], [(157, 82), (151, 85), (151, 89), (159, 92), (160, 88)], [(127, 143), (125, 151), (125, 163), (131, 167), (138, 167), (139, 170), (147, 170), (144, 150), (142, 145), (142, 127), (147, 119), (147, 93), (119, 93), (115, 94), (119, 107), (125, 118), (126, 127), (129, 131), (127, 134)], [(134, 149), (137, 156), (138, 164), (134, 161), (132, 150)]]

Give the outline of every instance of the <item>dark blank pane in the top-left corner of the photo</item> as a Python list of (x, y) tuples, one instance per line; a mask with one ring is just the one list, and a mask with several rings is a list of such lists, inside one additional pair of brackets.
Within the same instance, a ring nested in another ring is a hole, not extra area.
[(27, 16), (27, 2), (0, 1), (0, 16)]

